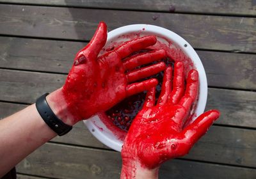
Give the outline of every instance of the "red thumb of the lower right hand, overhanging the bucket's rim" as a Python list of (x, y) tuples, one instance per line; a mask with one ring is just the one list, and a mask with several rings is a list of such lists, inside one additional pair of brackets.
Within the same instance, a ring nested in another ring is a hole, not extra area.
[(184, 137), (186, 137), (187, 142), (190, 144), (195, 144), (200, 137), (204, 136), (207, 132), (208, 128), (212, 125), (212, 123), (217, 120), (220, 116), (220, 112), (217, 110), (207, 111), (204, 114), (201, 114), (198, 118), (196, 118), (193, 123), (188, 125), (182, 131)]

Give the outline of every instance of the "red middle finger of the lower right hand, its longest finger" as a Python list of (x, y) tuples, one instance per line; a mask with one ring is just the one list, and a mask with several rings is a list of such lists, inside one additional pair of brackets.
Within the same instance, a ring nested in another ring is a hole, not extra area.
[(174, 64), (173, 89), (168, 98), (171, 104), (177, 104), (184, 93), (184, 65), (182, 62)]

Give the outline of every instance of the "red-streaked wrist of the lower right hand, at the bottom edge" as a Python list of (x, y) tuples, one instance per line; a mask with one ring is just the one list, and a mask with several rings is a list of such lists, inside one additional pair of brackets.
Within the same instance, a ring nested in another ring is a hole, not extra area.
[(124, 160), (122, 164), (121, 179), (156, 179), (158, 178), (159, 167), (148, 169), (140, 164), (138, 160)]

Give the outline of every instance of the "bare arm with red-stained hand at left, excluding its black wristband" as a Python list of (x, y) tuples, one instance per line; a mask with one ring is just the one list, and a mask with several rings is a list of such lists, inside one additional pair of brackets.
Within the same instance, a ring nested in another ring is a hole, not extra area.
[[(68, 125), (74, 125), (93, 114), (106, 111), (129, 95), (156, 86), (156, 79), (134, 81), (157, 74), (165, 68), (163, 63), (157, 63), (141, 70), (133, 70), (137, 66), (164, 58), (164, 51), (153, 51), (127, 58), (133, 52), (154, 45), (155, 36), (124, 42), (99, 56), (106, 38), (106, 24), (100, 22), (91, 42), (77, 52), (74, 65), (63, 87), (46, 98), (54, 114)], [(124, 61), (124, 58), (127, 60)], [(56, 133), (42, 120), (35, 104), (1, 120), (0, 177), (55, 136)]]

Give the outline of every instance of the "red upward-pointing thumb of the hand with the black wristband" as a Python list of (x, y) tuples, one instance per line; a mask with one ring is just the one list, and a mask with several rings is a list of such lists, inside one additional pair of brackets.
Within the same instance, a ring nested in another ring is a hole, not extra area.
[(104, 47), (106, 43), (108, 36), (107, 32), (107, 25), (105, 22), (100, 22), (92, 40), (88, 43), (88, 45), (86, 45), (86, 47), (77, 53), (77, 56), (83, 54), (86, 56), (86, 58), (96, 59), (102, 47)]

